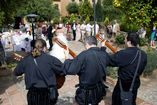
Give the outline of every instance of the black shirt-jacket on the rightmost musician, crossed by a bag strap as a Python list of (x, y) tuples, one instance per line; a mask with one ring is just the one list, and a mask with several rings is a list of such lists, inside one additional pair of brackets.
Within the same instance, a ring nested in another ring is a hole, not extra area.
[[(117, 53), (110, 55), (109, 66), (119, 67), (118, 76), (124, 81), (132, 81), (138, 62), (138, 57), (134, 63), (130, 64), (136, 56), (137, 51), (140, 50), (137, 47), (128, 47), (125, 50), (118, 51)], [(137, 73), (136, 80), (139, 80), (139, 76), (144, 71), (147, 64), (147, 55), (141, 50), (141, 62)]]

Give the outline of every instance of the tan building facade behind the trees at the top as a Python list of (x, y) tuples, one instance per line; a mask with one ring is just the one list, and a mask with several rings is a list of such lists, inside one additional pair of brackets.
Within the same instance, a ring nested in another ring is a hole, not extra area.
[[(84, 0), (53, 0), (53, 4), (57, 5), (61, 16), (68, 16), (66, 6), (71, 2), (76, 2), (78, 4), (82, 3)], [(88, 0), (92, 4), (93, 0)], [(97, 1), (97, 0), (95, 0)]]

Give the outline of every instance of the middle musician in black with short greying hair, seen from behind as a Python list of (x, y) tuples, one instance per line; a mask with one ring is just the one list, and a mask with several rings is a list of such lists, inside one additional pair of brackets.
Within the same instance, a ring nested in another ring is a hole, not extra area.
[(85, 39), (87, 50), (75, 59), (64, 62), (66, 75), (78, 75), (79, 84), (75, 100), (79, 105), (98, 105), (106, 95), (103, 79), (106, 77), (107, 56), (97, 46), (97, 39), (89, 36)]

